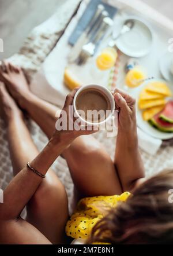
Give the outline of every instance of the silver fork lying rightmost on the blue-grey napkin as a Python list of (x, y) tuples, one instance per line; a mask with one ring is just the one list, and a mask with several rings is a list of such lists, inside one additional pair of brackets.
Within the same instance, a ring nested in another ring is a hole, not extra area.
[(86, 43), (82, 47), (81, 53), (77, 58), (77, 64), (83, 65), (86, 63), (86, 60), (89, 57), (92, 57), (96, 50), (96, 45), (100, 41), (100, 39), (104, 36), (105, 32), (109, 27), (113, 25), (113, 20), (110, 17), (104, 17), (102, 24), (100, 25), (99, 30), (97, 30), (94, 38), (91, 40), (91, 42)]

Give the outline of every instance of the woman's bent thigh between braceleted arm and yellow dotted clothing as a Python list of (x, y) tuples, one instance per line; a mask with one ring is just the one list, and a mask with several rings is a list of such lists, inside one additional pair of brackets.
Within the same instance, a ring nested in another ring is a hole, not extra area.
[(69, 217), (65, 187), (52, 170), (27, 204), (27, 221), (51, 243), (65, 243), (65, 225)]

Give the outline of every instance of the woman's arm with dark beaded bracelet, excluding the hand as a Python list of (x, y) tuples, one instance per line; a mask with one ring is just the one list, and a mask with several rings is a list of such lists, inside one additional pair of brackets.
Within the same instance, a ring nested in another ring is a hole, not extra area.
[[(40, 173), (46, 174), (51, 164), (69, 143), (70, 141), (63, 140), (61, 133), (57, 133), (31, 162), (31, 166)], [(18, 217), (41, 182), (42, 178), (39, 175), (24, 167), (4, 191), (4, 203), (0, 204), (0, 218), (10, 220)]]

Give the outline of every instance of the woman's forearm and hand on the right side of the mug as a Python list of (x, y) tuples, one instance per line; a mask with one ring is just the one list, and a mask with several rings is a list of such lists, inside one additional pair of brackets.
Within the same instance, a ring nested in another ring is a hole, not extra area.
[(123, 191), (130, 191), (145, 177), (138, 148), (135, 100), (118, 89), (115, 90), (114, 98), (119, 110), (115, 166)]

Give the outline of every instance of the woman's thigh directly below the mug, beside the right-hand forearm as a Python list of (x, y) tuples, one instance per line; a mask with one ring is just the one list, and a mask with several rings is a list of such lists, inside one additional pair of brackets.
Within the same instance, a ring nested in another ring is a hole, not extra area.
[(65, 152), (80, 196), (115, 195), (122, 192), (110, 155), (93, 136), (78, 137)]

